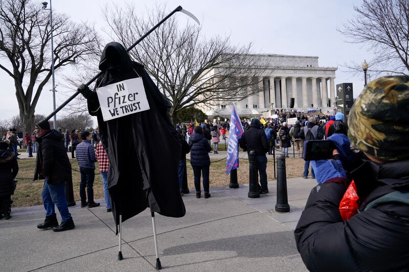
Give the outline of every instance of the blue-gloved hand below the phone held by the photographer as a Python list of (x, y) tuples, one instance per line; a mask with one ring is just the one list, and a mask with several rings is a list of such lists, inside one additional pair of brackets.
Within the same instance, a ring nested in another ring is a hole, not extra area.
[(314, 169), (315, 178), (318, 183), (324, 183), (329, 179), (347, 177), (340, 160), (311, 161), (311, 166)]

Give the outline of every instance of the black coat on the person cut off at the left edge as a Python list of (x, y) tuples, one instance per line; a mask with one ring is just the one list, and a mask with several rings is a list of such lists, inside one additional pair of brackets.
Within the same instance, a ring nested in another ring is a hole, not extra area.
[(17, 173), (18, 164), (14, 153), (8, 149), (0, 149), (0, 196), (14, 193), (13, 179)]

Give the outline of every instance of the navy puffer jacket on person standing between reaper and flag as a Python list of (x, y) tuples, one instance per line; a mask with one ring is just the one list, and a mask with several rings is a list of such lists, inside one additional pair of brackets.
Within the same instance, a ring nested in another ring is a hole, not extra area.
[(189, 138), (190, 164), (192, 165), (210, 165), (209, 152), (212, 147), (209, 141), (203, 135), (194, 133)]

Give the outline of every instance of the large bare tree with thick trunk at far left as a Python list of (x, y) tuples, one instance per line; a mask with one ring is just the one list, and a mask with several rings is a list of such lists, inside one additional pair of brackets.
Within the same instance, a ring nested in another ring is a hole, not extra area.
[[(0, 68), (13, 80), (22, 130), (32, 131), (35, 108), (51, 73), (49, 12), (30, 0), (0, 0)], [(95, 54), (96, 34), (85, 24), (53, 14), (55, 70)]]

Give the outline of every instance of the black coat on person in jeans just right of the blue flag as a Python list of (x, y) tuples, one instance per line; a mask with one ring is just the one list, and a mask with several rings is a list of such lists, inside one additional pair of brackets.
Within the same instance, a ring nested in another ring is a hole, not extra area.
[(254, 150), (257, 156), (265, 155), (270, 148), (264, 131), (253, 125), (241, 136), (240, 147), (247, 153)]

